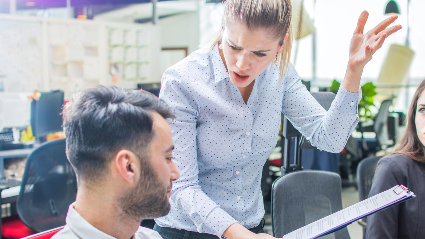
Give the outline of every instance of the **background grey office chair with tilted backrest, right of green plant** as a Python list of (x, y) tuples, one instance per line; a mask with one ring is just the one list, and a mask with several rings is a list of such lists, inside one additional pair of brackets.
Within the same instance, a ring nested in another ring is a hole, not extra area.
[[(388, 109), (391, 104), (392, 100), (390, 99), (381, 102), (379, 111), (374, 118), (373, 125), (369, 125), (365, 122), (359, 122), (359, 130), (362, 133), (362, 145), (364, 151), (369, 154), (374, 154), (377, 151), (394, 145), (394, 140), (390, 138), (388, 133), (388, 115), (390, 113)], [(376, 137), (374, 142), (369, 144), (372, 146), (369, 146), (363, 137), (363, 133), (372, 131), (376, 134)]]

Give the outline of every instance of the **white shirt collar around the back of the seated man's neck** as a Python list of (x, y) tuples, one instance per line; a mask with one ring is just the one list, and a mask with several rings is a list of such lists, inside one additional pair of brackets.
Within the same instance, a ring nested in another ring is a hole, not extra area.
[(95, 228), (87, 222), (74, 208), (75, 202), (69, 205), (68, 214), (66, 215), (66, 225), (74, 232), (79, 238), (102, 238), (102, 239), (116, 239), (101, 230)]

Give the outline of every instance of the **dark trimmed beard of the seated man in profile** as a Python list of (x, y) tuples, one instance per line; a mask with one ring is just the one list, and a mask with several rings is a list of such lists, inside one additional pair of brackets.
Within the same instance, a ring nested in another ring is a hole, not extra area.
[(165, 216), (170, 212), (167, 191), (170, 185), (161, 183), (148, 160), (141, 160), (142, 167), (139, 184), (119, 198), (119, 206), (125, 216), (136, 219), (152, 219)]

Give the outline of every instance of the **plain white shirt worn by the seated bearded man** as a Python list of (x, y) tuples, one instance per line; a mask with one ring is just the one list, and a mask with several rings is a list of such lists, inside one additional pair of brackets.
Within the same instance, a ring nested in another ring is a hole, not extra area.
[[(115, 237), (98, 230), (87, 222), (75, 211), (74, 205), (75, 202), (69, 205), (65, 227), (56, 233), (52, 239), (115, 239)], [(139, 227), (134, 233), (133, 239), (162, 239), (162, 237), (152, 229)]]

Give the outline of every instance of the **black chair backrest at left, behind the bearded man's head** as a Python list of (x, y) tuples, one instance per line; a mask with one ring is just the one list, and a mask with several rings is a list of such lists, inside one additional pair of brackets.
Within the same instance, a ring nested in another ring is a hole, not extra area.
[(65, 139), (48, 141), (27, 158), (17, 199), (22, 222), (41, 232), (65, 225), (77, 195), (77, 179), (65, 154)]

